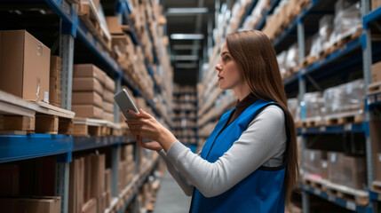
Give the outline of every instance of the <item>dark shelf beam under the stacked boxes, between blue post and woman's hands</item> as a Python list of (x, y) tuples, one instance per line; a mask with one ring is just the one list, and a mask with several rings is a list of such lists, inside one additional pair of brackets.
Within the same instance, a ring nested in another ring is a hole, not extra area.
[(99, 148), (103, 146), (120, 146), (132, 143), (132, 137), (74, 137), (73, 152)]

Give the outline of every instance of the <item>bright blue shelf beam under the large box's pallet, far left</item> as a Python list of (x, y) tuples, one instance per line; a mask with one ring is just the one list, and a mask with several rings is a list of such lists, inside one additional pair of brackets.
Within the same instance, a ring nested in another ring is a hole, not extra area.
[(73, 137), (70, 135), (0, 135), (0, 162), (68, 154), (71, 153), (72, 146)]

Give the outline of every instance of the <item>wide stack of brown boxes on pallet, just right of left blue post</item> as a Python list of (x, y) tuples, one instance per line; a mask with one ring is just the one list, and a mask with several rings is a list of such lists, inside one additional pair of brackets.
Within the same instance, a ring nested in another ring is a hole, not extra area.
[(73, 67), (72, 110), (77, 117), (103, 119), (106, 74), (91, 64)]

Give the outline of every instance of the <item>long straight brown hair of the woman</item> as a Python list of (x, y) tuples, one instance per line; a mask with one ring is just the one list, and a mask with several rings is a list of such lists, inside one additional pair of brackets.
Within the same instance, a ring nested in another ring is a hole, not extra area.
[(284, 177), (286, 205), (289, 206), (291, 193), (296, 188), (299, 177), (297, 132), (287, 107), (286, 92), (273, 44), (262, 32), (250, 30), (227, 35), (226, 46), (234, 60), (242, 67), (243, 76), (254, 96), (278, 103), (289, 116), (289, 159)]

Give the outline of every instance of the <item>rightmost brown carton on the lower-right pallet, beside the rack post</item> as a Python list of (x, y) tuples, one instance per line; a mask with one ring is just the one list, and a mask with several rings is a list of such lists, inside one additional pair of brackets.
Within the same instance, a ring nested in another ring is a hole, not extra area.
[(364, 189), (367, 182), (367, 165), (363, 157), (343, 157), (342, 185)]

